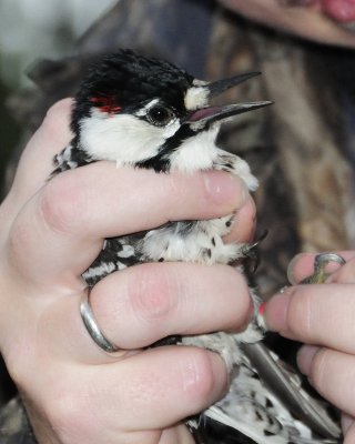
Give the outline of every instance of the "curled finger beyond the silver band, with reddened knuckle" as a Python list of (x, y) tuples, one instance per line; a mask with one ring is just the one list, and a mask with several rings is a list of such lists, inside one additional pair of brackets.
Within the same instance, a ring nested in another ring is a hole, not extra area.
[(244, 278), (222, 265), (139, 265), (101, 281), (90, 301), (105, 337), (121, 349), (174, 334), (240, 331), (252, 315)]

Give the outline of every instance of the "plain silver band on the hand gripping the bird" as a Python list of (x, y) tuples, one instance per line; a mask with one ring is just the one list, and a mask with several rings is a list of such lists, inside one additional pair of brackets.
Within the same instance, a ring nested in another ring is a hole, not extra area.
[(106, 353), (116, 353), (120, 351), (120, 349), (104, 336), (97, 323), (97, 320), (94, 319), (90, 305), (90, 293), (91, 287), (88, 287), (88, 291), (84, 292), (84, 294), (82, 295), (80, 302), (81, 319), (91, 339), (97, 345), (99, 345), (100, 349), (102, 349)]

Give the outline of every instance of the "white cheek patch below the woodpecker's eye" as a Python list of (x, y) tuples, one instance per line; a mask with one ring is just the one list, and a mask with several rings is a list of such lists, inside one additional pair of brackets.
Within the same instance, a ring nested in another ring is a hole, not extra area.
[(153, 158), (165, 140), (180, 128), (178, 119), (159, 128), (129, 114), (106, 114), (92, 110), (81, 121), (82, 148), (93, 160), (133, 164)]

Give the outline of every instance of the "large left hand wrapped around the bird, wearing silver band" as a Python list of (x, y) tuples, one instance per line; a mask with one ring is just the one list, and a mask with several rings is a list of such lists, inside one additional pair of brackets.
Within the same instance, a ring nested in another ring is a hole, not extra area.
[[(91, 292), (116, 355), (82, 324), (82, 272), (103, 239), (168, 220), (236, 211), (229, 240), (248, 240), (255, 208), (222, 172), (156, 174), (97, 162), (47, 181), (70, 140), (70, 100), (55, 104), (27, 147), (0, 208), (0, 349), (40, 443), (192, 443), (181, 421), (226, 390), (220, 356), (205, 350), (142, 350), (171, 334), (240, 330), (251, 315), (244, 279), (230, 266), (143, 264)], [(178, 424), (178, 425), (176, 425)]]

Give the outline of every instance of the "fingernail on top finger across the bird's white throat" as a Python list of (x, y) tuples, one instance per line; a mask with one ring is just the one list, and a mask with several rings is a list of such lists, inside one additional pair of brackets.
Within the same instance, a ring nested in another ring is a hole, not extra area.
[(222, 171), (203, 173), (204, 184), (210, 199), (217, 204), (239, 209), (248, 199), (248, 191), (241, 179)]

